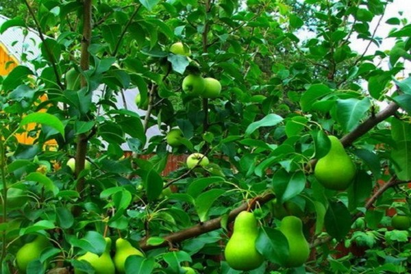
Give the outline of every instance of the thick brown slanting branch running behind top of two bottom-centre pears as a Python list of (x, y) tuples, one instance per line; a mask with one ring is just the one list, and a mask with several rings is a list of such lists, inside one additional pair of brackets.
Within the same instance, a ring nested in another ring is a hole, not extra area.
[[(256, 197), (255, 199), (253, 199), (253, 201), (255, 201), (255, 203), (253, 203), (251, 205), (251, 208), (254, 208), (256, 206), (256, 203), (259, 203), (260, 205), (270, 201), (271, 199), (275, 198), (275, 195), (273, 193), (269, 193), (266, 194), (264, 196), (261, 197)], [(234, 208), (234, 210), (232, 210), (231, 212), (229, 212), (228, 215), (228, 223), (234, 221), (234, 219), (236, 219), (236, 216), (238, 214), (240, 214), (240, 212), (247, 210), (247, 208), (249, 208), (249, 203), (245, 202), (242, 203), (240, 206), (238, 206), (238, 208)], [(169, 246), (169, 244), (175, 244), (177, 242), (182, 242), (183, 240), (187, 240), (189, 238), (194, 238), (197, 237), (201, 234), (207, 233), (207, 232), (211, 232), (213, 230), (219, 229), (221, 228), (221, 219), (222, 217), (218, 217), (215, 219), (212, 219), (210, 221), (206, 221), (204, 223), (199, 223), (198, 225), (195, 225), (193, 227), (190, 227), (188, 229), (184, 229), (182, 231), (179, 232), (175, 232), (173, 234), (169, 234), (168, 236), (164, 237), (164, 242), (162, 243), (162, 245), (157, 245), (157, 246), (151, 246), (151, 245), (147, 245), (147, 239), (142, 240), (140, 242), (140, 248), (142, 250), (150, 250), (150, 249), (155, 249), (158, 247), (167, 247)]]

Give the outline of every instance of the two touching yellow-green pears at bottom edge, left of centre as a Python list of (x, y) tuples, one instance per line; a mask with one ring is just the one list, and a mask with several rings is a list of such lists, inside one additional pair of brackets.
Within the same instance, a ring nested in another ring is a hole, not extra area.
[[(83, 256), (79, 256), (77, 260), (86, 261), (95, 269), (96, 274), (114, 274), (116, 273), (125, 273), (125, 260), (129, 256), (144, 256), (142, 252), (130, 244), (129, 241), (118, 238), (116, 240), (116, 254), (114, 255), (114, 260), (110, 257), (110, 249), (112, 241), (110, 238), (106, 237), (105, 239), (105, 251), (101, 256), (98, 256), (95, 253), (87, 252)], [(75, 274), (87, 274), (83, 271), (75, 269)]]

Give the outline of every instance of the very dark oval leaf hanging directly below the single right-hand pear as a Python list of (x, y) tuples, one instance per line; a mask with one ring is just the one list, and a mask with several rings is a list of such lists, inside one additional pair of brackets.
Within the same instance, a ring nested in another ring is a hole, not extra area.
[(329, 202), (324, 220), (327, 233), (338, 241), (343, 239), (351, 229), (351, 215), (341, 202)]

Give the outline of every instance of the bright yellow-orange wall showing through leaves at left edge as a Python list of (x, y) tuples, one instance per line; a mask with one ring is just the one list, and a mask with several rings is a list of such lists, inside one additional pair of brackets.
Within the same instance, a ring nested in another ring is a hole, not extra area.
[[(0, 41), (0, 76), (8, 75), (10, 71), (14, 69), (18, 65), (17, 60), (8, 54), (8, 51), (5, 49), (4, 45), (1, 44)], [(40, 101), (47, 100), (47, 95), (43, 95), (40, 97)], [(46, 110), (40, 110), (40, 112), (45, 112)], [(25, 144), (25, 145), (32, 145), (36, 140), (36, 137), (28, 136), (28, 132), (36, 128), (36, 123), (30, 123), (25, 126), (27, 132), (23, 132), (21, 134), (16, 134), (16, 138), (18, 142)], [(45, 145), (49, 146), (56, 146), (57, 142), (55, 140), (49, 140), (45, 143)]]

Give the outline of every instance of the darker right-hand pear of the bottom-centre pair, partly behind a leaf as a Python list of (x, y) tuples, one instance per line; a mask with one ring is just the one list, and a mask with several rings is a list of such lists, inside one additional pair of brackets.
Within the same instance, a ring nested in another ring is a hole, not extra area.
[(279, 231), (286, 236), (289, 247), (287, 267), (301, 266), (310, 256), (310, 246), (303, 234), (303, 223), (296, 216), (286, 216), (282, 219)]

